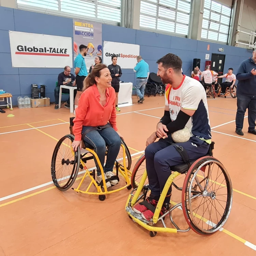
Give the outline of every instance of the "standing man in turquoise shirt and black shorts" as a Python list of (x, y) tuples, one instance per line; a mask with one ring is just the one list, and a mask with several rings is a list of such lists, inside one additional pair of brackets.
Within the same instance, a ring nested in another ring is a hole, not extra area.
[[(77, 86), (77, 92), (75, 96), (75, 109), (77, 108), (78, 105), (78, 100), (83, 92), (83, 83), (85, 80), (85, 77), (88, 75), (87, 68), (85, 65), (85, 59), (84, 56), (86, 56), (88, 52), (88, 47), (85, 46), (84, 44), (81, 44), (79, 46), (80, 54), (76, 56), (75, 58), (75, 74), (76, 74), (76, 86)], [(75, 110), (74, 110), (74, 115), (75, 115)]]

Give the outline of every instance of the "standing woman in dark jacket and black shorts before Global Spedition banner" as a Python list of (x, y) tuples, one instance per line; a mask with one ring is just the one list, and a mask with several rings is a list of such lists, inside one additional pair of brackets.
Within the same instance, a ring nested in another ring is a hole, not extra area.
[(117, 57), (113, 55), (111, 59), (112, 64), (108, 66), (108, 69), (112, 77), (111, 86), (115, 89), (116, 92), (116, 111), (120, 111), (120, 109), (118, 108), (118, 93), (120, 88), (120, 77), (122, 75), (122, 70), (121, 67), (116, 64)]

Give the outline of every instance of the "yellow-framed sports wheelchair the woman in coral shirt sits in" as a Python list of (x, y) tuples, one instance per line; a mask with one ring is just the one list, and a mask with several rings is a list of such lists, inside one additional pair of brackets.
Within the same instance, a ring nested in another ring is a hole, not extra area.
[[(103, 168), (101, 166), (100, 160), (97, 154), (94, 152), (93, 148), (89, 145), (85, 145), (83, 142), (82, 150), (80, 148), (77, 149), (76, 152), (73, 151), (71, 144), (74, 141), (73, 134), (73, 119), (70, 118), (70, 133), (64, 137), (62, 137), (57, 145), (55, 146), (53, 156), (52, 156), (52, 164), (51, 164), (51, 174), (54, 185), (61, 191), (68, 190), (72, 187), (75, 180), (81, 179), (77, 188), (72, 188), (77, 193), (84, 193), (89, 195), (98, 195), (99, 200), (104, 201), (107, 194), (114, 193), (116, 191), (122, 189), (131, 189), (131, 155), (128, 147), (126, 146), (124, 140), (121, 142), (121, 147), (119, 154), (116, 158), (115, 168), (116, 168), (116, 176), (115, 178), (119, 181), (119, 174), (123, 176), (126, 185), (119, 187), (115, 190), (108, 190), (106, 187), (106, 182), (108, 179), (105, 179)], [(108, 152), (108, 146), (106, 146), (106, 154)], [(96, 180), (96, 167), (88, 169), (86, 167), (86, 163), (89, 160), (95, 159), (97, 161), (99, 169), (102, 174), (102, 182), (98, 183)], [(83, 171), (80, 171), (83, 169)], [(114, 170), (113, 170), (114, 172)], [(82, 177), (78, 177), (78, 174), (83, 174)], [(88, 177), (89, 184), (87, 182), (87, 188), (85, 190), (81, 189), (85, 178)], [(113, 185), (112, 185), (113, 186)]]

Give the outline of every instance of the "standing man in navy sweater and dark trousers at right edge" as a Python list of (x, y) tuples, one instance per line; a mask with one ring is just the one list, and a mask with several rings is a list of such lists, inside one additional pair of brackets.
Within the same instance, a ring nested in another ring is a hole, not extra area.
[(236, 133), (243, 136), (244, 114), (248, 109), (248, 133), (256, 135), (256, 51), (250, 59), (244, 60), (237, 72), (237, 115)]

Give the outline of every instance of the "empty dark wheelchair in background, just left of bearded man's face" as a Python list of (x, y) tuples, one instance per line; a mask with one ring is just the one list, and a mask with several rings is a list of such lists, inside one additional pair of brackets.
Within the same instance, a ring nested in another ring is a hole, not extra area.
[(165, 93), (165, 85), (162, 83), (161, 78), (157, 76), (156, 73), (150, 73), (148, 81), (146, 83), (145, 95), (150, 97), (151, 95), (156, 96), (158, 93), (159, 96), (162, 96)]

